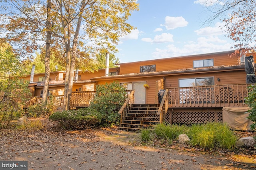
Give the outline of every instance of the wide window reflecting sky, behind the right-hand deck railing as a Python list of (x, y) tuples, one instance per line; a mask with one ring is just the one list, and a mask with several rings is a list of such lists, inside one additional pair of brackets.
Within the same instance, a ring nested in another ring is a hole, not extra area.
[(180, 87), (191, 87), (191, 86), (212, 86), (213, 78), (189, 78), (189, 79), (180, 79)]

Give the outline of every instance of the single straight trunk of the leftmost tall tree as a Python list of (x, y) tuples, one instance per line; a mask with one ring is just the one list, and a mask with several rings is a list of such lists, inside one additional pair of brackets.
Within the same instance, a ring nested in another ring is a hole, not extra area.
[(49, 89), (49, 82), (50, 82), (50, 46), (51, 46), (51, 0), (47, 0), (47, 18), (46, 18), (46, 47), (45, 47), (45, 57), (44, 57), (44, 64), (45, 64), (45, 74), (44, 74), (44, 90), (42, 96), (42, 102), (47, 104), (47, 94)]

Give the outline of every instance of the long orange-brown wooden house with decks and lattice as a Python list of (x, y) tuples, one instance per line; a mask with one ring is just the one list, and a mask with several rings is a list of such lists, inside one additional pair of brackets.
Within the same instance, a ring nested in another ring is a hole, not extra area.
[[(73, 91), (77, 94), (92, 92), (98, 84), (118, 81), (127, 90), (135, 90), (134, 104), (137, 106), (133, 109), (153, 109), (151, 106), (144, 108), (144, 105), (160, 104), (159, 92), (166, 92), (168, 102), (163, 119), (169, 123), (222, 121), (224, 107), (246, 108), (243, 101), (248, 94), (248, 84), (244, 63), (240, 60), (240, 55), (231, 55), (232, 53), (234, 51), (119, 63), (119, 67), (109, 68), (108, 76), (105, 76), (105, 69), (94, 73), (78, 71)], [(248, 55), (252, 55), (254, 59), (256, 57), (255, 53), (246, 54)], [(30, 80), (30, 77), (34, 78)], [(63, 95), (64, 77), (64, 71), (50, 73), (49, 91), (52, 95)], [(28, 75), (25, 80), (30, 80), (32, 94), (40, 97), (44, 73)], [(145, 88), (144, 84), (148, 87)], [(156, 107), (159, 109), (158, 105)], [(154, 114), (150, 116), (155, 117)], [(140, 125), (152, 123), (153, 118), (145, 120), (143, 117), (145, 115), (136, 118), (133, 114), (124, 124), (136, 128), (137, 125), (133, 126), (134, 122)], [(159, 119), (161, 116), (156, 121)]]

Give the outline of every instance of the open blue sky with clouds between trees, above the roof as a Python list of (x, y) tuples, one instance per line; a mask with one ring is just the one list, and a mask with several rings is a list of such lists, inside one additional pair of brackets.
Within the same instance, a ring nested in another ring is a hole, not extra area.
[(140, 10), (128, 20), (136, 29), (116, 46), (120, 63), (231, 50), (219, 20), (204, 25), (212, 15), (206, 1), (138, 0)]

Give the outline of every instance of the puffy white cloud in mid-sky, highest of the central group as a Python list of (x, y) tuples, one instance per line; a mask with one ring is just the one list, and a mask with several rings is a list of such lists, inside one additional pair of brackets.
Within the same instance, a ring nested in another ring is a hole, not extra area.
[(166, 27), (167, 30), (175, 29), (178, 27), (185, 27), (188, 25), (188, 21), (186, 21), (183, 17), (165, 17), (165, 23), (163, 26)]

